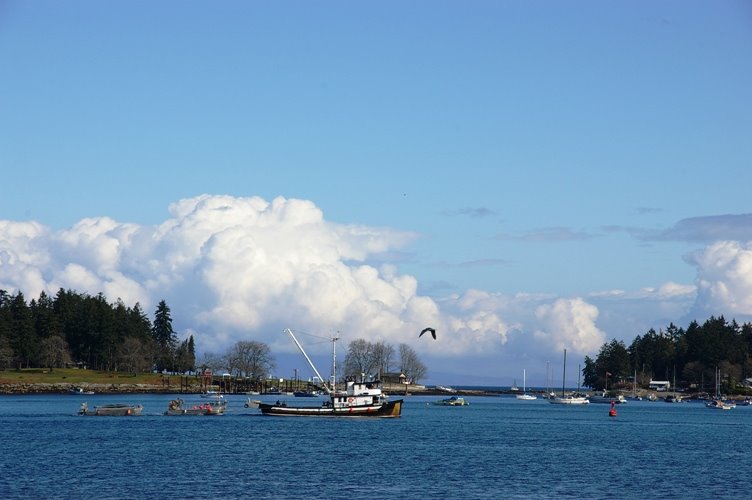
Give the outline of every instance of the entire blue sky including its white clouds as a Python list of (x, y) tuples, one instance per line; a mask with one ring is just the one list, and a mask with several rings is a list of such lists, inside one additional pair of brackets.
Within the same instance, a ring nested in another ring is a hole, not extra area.
[(751, 47), (745, 1), (0, 0), (0, 289), (558, 386), (752, 321)]

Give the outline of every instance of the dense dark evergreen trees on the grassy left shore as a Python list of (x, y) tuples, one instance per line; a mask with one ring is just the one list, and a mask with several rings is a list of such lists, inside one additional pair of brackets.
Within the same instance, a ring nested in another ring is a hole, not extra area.
[(85, 365), (105, 371), (182, 372), (195, 365), (193, 336), (179, 342), (162, 300), (150, 320), (136, 303), (60, 289), (26, 302), (0, 290), (0, 369)]

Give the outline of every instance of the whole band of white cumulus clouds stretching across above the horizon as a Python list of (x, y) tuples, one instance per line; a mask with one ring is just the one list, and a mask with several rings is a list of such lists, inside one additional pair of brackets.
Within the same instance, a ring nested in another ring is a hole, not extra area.
[[(165, 299), (176, 330), (193, 334), (199, 353), (250, 339), (293, 353), (281, 334), (292, 327), (340, 332), (343, 347), (357, 338), (407, 343), (429, 371), (452, 364), (472, 371), (459, 360), (496, 366), (516, 356), (528, 367), (544, 366), (563, 348), (593, 355), (606, 332), (629, 340), (664, 326), (650, 318), (676, 321), (693, 301), (710, 314), (752, 314), (749, 244), (722, 242), (689, 256), (695, 285), (666, 282), (584, 298), (473, 289), (433, 298), (384, 260), (409, 249), (418, 237), (412, 232), (333, 223), (313, 202), (282, 197), (202, 195), (173, 203), (169, 214), (155, 226), (99, 217), (60, 231), (0, 221), (0, 289), (27, 298), (59, 288), (101, 292), (147, 312)], [(437, 329), (439, 341), (418, 339), (425, 326)], [(317, 349), (329, 346), (310, 348)]]

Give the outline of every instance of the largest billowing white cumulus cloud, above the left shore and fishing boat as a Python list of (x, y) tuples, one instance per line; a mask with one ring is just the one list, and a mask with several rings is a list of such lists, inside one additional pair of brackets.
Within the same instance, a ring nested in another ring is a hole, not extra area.
[(157, 226), (100, 217), (57, 232), (2, 221), (0, 288), (28, 297), (61, 287), (102, 292), (146, 310), (164, 298), (176, 328), (195, 332), (204, 350), (248, 338), (291, 348), (279, 334), (285, 326), (398, 344), (430, 324), (445, 334), (434, 354), (449, 355), (467, 339), (503, 331), (493, 314), (444, 316), (418, 295), (414, 277), (371, 263), (414, 233), (335, 224), (314, 203), (281, 197), (202, 195), (169, 211)]

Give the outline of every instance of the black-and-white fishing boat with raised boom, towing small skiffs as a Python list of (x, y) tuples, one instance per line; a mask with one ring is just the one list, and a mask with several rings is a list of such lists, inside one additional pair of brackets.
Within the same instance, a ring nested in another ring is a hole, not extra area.
[[(308, 364), (323, 380), (319, 371), (306, 354), (303, 346), (289, 328), (285, 332), (290, 335), (295, 345), (305, 357)], [(390, 401), (382, 390), (379, 380), (348, 380), (345, 390), (338, 391), (336, 387), (336, 344), (337, 338), (332, 341), (332, 387), (324, 385), (329, 398), (319, 406), (298, 406), (287, 404), (287, 401), (277, 400), (275, 403), (259, 403), (258, 408), (263, 415), (273, 416), (321, 416), (321, 417), (399, 417), (402, 414), (402, 399)]]

